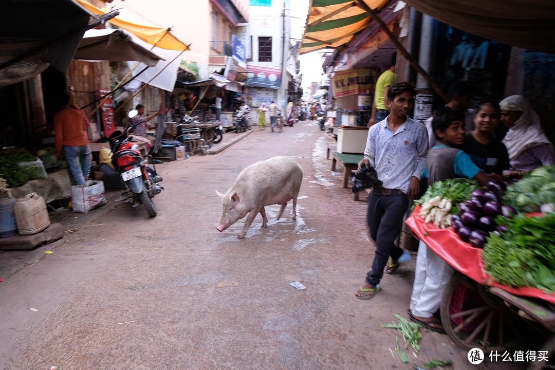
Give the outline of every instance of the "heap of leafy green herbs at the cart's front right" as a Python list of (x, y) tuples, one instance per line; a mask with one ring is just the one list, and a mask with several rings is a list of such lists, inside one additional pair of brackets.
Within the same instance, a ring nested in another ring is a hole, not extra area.
[(503, 221), (504, 234), (491, 234), (484, 246), (486, 272), (504, 285), (555, 292), (555, 214)]

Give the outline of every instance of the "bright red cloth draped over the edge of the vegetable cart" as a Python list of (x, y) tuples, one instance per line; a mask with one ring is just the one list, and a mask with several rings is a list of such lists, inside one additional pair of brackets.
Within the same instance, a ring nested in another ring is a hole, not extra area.
[(555, 293), (546, 293), (538, 288), (514, 288), (502, 285), (493, 280), (484, 269), (482, 261), (483, 250), (463, 242), (453, 231), (452, 227), (440, 229), (433, 224), (426, 224), (419, 216), (420, 206), (416, 206), (412, 214), (405, 221), (408, 227), (432, 251), (436, 252), (445, 262), (463, 275), (485, 285), (495, 286), (517, 296), (539, 298), (555, 305)]

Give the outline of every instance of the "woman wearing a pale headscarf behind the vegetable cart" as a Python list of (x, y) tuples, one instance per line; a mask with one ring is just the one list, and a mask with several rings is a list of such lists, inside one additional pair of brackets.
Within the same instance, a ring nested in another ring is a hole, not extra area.
[(509, 128), (503, 144), (509, 153), (512, 171), (531, 171), (555, 164), (553, 144), (539, 125), (539, 117), (528, 100), (512, 95), (501, 100), (501, 121)]

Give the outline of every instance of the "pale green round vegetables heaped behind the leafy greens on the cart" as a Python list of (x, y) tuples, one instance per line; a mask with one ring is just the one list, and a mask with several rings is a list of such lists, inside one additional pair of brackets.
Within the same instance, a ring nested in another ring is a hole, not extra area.
[(538, 212), (543, 204), (555, 204), (555, 166), (542, 166), (509, 185), (505, 204), (519, 212)]

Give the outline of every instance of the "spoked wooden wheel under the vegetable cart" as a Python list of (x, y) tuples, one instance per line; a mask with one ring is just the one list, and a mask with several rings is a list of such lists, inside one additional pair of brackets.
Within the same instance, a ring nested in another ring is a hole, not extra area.
[(523, 333), (530, 330), (527, 322), (504, 306), (502, 300), (459, 272), (445, 287), (440, 312), (447, 336), (468, 350), (511, 349), (526, 340)]

